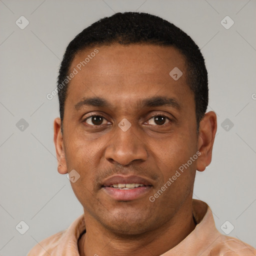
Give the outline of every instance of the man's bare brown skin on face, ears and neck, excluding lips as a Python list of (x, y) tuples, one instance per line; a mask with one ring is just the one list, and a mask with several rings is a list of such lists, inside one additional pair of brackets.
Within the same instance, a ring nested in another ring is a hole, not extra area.
[[(70, 70), (94, 48), (77, 53)], [(192, 189), (196, 169), (211, 161), (216, 115), (207, 112), (196, 132), (195, 102), (186, 80), (185, 58), (173, 47), (112, 44), (99, 52), (69, 82), (64, 105), (63, 134), (54, 120), (58, 172), (75, 169), (80, 178), (72, 189), (84, 208), (86, 233), (78, 242), (80, 255), (160, 255), (183, 240), (195, 227)], [(169, 72), (183, 75), (174, 80)], [(171, 97), (179, 108), (143, 106), (141, 100)], [(111, 106), (74, 105), (83, 97), (101, 97)], [(99, 126), (90, 114), (103, 115)], [(155, 116), (166, 115), (164, 124)], [(118, 123), (131, 126), (123, 131)], [(93, 125), (94, 124), (94, 125)], [(149, 196), (175, 174), (196, 151), (197, 160), (154, 202)], [(110, 175), (140, 175), (152, 187), (130, 201), (111, 198), (100, 187)]]

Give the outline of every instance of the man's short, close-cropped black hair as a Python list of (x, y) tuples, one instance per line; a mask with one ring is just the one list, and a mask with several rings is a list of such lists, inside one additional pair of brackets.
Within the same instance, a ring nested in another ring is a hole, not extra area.
[[(68, 44), (59, 68), (58, 99), (63, 128), (64, 103), (68, 82), (63, 81), (75, 54), (87, 47), (119, 44), (145, 43), (173, 46), (186, 59), (186, 77), (194, 94), (197, 128), (208, 105), (208, 78), (204, 58), (199, 47), (180, 28), (158, 16), (143, 12), (118, 12), (104, 17), (83, 29)], [(62, 86), (60, 86), (62, 83)], [(61, 89), (60, 89), (61, 88)]]

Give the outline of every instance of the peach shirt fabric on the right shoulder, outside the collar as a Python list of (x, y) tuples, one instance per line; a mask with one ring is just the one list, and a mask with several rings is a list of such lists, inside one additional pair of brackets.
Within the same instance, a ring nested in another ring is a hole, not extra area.
[(255, 256), (256, 249), (237, 238), (221, 234), (218, 243), (211, 249), (209, 255)]

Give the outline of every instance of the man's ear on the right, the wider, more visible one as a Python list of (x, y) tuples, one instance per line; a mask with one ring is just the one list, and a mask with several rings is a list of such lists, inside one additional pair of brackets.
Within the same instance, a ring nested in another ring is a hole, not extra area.
[(217, 130), (217, 117), (215, 112), (209, 111), (204, 114), (199, 123), (199, 135), (197, 150), (201, 153), (196, 162), (196, 169), (205, 170), (211, 162), (212, 146)]

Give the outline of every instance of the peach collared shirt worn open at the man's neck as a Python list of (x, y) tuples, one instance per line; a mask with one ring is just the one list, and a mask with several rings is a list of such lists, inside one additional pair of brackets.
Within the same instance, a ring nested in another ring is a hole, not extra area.
[[(215, 227), (209, 206), (193, 199), (194, 230), (175, 247), (160, 256), (255, 256), (256, 249), (234, 237), (221, 234)], [(83, 214), (65, 230), (36, 244), (27, 256), (79, 256), (77, 241), (85, 229)]]

